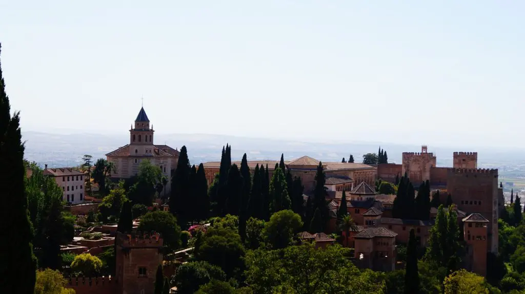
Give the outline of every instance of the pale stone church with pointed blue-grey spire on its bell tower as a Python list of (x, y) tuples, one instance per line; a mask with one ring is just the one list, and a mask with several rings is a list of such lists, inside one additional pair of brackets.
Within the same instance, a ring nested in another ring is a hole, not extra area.
[(140, 109), (134, 127), (131, 126), (130, 144), (119, 147), (106, 154), (107, 160), (113, 162), (115, 170), (111, 173), (113, 179), (128, 179), (138, 174), (140, 162), (149, 160), (160, 167), (162, 174), (169, 180), (166, 193), (171, 190), (171, 170), (177, 167), (179, 151), (167, 145), (155, 145), (153, 125), (144, 111)]

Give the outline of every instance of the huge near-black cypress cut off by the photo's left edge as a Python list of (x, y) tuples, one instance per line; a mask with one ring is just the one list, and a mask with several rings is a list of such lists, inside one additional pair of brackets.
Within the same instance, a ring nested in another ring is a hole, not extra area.
[[(2, 47), (0, 45), (0, 52)], [(33, 293), (36, 258), (33, 254), (33, 226), (27, 212), (24, 187), (24, 144), (20, 116), (10, 113), (9, 98), (0, 64), (0, 293)]]

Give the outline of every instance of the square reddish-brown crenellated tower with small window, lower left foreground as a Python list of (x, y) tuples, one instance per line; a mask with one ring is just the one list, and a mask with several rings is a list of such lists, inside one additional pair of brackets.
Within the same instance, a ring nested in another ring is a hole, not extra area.
[(153, 293), (155, 273), (162, 264), (162, 243), (154, 232), (136, 234), (118, 233), (116, 279), (118, 293)]

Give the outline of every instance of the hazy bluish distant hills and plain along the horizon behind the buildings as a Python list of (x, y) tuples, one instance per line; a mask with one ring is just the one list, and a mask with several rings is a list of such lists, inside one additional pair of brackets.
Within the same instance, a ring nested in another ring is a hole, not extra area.
[[(91, 133), (50, 134), (41, 132), (23, 132), (26, 141), (25, 157), (40, 165), (49, 167), (77, 166), (85, 154), (93, 158), (105, 158), (105, 154), (129, 143), (129, 137), (123, 134), (99, 135)], [(240, 160), (246, 153), (249, 160), (279, 159), (281, 153), (285, 160), (304, 155), (322, 161), (339, 162), (344, 157), (353, 155), (356, 162), (361, 162), (363, 154), (376, 153), (381, 146), (388, 154), (390, 162), (401, 163), (403, 152), (420, 152), (421, 146), (401, 145), (379, 142), (322, 143), (293, 140), (275, 140), (209, 134), (155, 134), (155, 144), (166, 144), (173, 148), (183, 145), (188, 150), (192, 164), (220, 160), (223, 145), (232, 145), (232, 158)], [(525, 156), (509, 153), (506, 150), (463, 150), (428, 146), (429, 152), (437, 155), (438, 166), (451, 166), (454, 151), (478, 151), (480, 167), (497, 167), (508, 164), (525, 164)], [(521, 159), (516, 158), (521, 156)]]

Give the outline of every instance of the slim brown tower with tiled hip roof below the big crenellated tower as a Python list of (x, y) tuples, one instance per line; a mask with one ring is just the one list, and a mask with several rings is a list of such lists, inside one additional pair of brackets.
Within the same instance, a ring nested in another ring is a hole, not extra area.
[(463, 234), (467, 242), (467, 266), (474, 273), (487, 275), (487, 224), (489, 221), (479, 213), (463, 219)]

